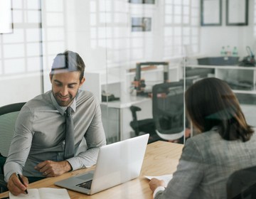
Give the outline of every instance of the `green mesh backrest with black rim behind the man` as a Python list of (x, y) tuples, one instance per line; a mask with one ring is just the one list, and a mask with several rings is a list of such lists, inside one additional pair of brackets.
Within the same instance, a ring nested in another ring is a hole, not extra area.
[(11, 139), (14, 135), (14, 126), (18, 117), (18, 112), (26, 102), (8, 104), (0, 107), (0, 153), (8, 155)]

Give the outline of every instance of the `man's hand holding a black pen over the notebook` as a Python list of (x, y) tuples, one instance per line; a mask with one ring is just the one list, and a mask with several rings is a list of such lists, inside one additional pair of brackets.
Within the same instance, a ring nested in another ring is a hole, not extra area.
[(25, 176), (21, 176), (21, 178), (24, 182), (24, 185), (23, 183), (21, 183), (20, 180), (18, 180), (18, 176), (16, 175), (16, 173), (13, 173), (9, 178), (7, 188), (13, 195), (19, 195), (20, 193), (26, 194), (25, 190), (28, 187), (28, 178), (26, 178)]

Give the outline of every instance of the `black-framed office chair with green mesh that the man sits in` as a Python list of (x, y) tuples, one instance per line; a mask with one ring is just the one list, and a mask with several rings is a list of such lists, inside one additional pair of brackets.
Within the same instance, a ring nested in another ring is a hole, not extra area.
[(7, 190), (4, 181), (4, 163), (8, 156), (11, 139), (14, 135), (14, 126), (18, 117), (18, 112), (26, 102), (8, 104), (0, 107), (0, 193)]

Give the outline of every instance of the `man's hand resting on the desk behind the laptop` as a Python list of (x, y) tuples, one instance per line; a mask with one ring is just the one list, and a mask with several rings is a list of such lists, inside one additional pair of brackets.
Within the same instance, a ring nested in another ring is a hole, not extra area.
[(38, 163), (35, 169), (36, 171), (40, 171), (43, 176), (53, 177), (71, 171), (72, 167), (68, 161), (43, 161)]

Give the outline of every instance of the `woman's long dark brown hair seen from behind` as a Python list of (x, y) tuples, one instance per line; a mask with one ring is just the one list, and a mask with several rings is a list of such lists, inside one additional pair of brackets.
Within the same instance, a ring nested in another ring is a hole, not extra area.
[(215, 77), (199, 80), (186, 90), (185, 101), (191, 122), (201, 132), (218, 127), (225, 140), (250, 140), (254, 131), (227, 82)]

